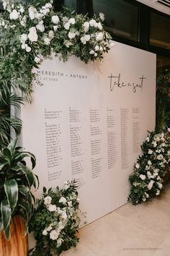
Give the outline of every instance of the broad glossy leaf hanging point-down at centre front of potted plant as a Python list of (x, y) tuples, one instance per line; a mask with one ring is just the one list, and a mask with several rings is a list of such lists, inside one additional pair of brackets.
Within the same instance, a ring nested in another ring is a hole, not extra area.
[(14, 211), (15, 206), (17, 205), (18, 200), (18, 184), (15, 179), (11, 179), (4, 183), (4, 189), (6, 193), (7, 200), (12, 209), (12, 213)]

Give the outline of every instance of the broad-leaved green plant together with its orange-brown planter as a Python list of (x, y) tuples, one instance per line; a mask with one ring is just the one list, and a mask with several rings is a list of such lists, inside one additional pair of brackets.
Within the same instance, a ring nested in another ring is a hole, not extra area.
[[(25, 158), (30, 158), (31, 167)], [(25, 235), (35, 206), (30, 189), (38, 186), (37, 176), (32, 172), (35, 163), (35, 155), (17, 147), (17, 140), (0, 150), (0, 246), (5, 256), (27, 255)], [(21, 238), (14, 238), (19, 234)]]

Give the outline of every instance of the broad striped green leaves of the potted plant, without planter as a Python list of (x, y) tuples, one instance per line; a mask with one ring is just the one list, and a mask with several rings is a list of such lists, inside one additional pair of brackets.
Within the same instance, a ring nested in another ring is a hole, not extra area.
[[(30, 158), (32, 167), (28, 167), (25, 158)], [(20, 216), (26, 224), (32, 217), (35, 197), (30, 191), (37, 187), (37, 176), (32, 172), (35, 167), (35, 155), (17, 147), (17, 140), (0, 150), (0, 226), (9, 239), (9, 227), (13, 216)]]

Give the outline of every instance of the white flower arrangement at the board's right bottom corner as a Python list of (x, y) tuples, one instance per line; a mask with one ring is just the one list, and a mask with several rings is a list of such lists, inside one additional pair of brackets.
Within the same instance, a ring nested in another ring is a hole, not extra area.
[(166, 132), (150, 132), (141, 146), (139, 156), (130, 175), (131, 190), (128, 201), (133, 205), (158, 196), (163, 187), (166, 167), (170, 161), (170, 129)]

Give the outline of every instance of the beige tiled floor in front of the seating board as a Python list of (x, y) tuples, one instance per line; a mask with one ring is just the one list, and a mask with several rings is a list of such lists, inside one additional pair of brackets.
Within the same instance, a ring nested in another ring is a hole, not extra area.
[(170, 256), (170, 184), (152, 202), (127, 204), (80, 230), (61, 256)]

